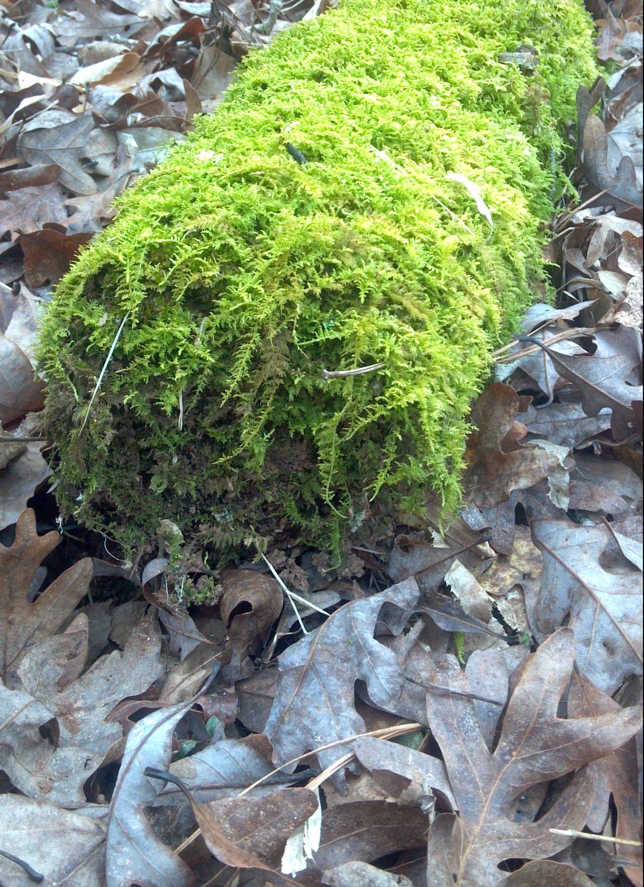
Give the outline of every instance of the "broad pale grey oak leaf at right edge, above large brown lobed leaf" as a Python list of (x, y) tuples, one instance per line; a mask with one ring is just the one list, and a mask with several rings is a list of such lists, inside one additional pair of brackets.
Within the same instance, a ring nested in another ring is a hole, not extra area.
[(610, 541), (601, 525), (534, 521), (531, 529), (544, 561), (539, 592), (526, 595), (531, 624), (543, 637), (570, 615), (579, 671), (612, 693), (641, 673), (640, 571), (601, 566)]

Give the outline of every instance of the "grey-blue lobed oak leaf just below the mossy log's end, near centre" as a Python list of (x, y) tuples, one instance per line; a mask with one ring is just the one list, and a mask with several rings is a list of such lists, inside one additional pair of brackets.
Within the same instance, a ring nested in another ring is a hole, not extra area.
[[(352, 600), (279, 657), (277, 692), (264, 730), (273, 743), (275, 763), (365, 732), (354, 707), (356, 680), (367, 684), (373, 703), (395, 710), (405, 675), (392, 650), (374, 638), (374, 630), (385, 603), (408, 610), (418, 594), (410, 577), (365, 600)], [(347, 742), (317, 757), (326, 767), (349, 750)], [(342, 774), (337, 784), (344, 789)]]

